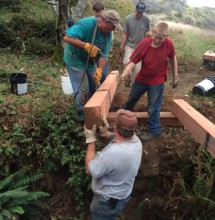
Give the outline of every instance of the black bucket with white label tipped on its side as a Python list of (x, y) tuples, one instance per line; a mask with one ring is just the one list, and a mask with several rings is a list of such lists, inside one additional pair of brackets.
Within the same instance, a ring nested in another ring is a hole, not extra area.
[(193, 87), (192, 92), (200, 96), (207, 96), (215, 93), (215, 76), (209, 76), (198, 83)]

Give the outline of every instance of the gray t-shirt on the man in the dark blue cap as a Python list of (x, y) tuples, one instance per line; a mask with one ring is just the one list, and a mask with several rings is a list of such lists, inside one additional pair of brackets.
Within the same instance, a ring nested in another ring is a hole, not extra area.
[(125, 45), (135, 48), (149, 30), (150, 20), (145, 13), (139, 19), (135, 17), (134, 13), (128, 15), (123, 26), (123, 31), (128, 34)]

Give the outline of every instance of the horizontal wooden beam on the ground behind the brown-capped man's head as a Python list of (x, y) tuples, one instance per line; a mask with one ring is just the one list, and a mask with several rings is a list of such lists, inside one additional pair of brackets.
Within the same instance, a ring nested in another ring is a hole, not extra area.
[[(147, 124), (147, 112), (135, 112), (138, 123)], [(107, 120), (109, 123), (114, 123), (116, 119), (116, 112), (109, 112)], [(162, 126), (183, 126), (181, 122), (171, 112), (160, 112), (160, 123)]]

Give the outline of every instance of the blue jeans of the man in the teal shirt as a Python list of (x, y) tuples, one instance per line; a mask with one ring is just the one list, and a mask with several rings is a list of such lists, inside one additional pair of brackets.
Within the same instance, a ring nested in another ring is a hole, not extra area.
[(75, 104), (80, 121), (84, 120), (84, 105), (95, 92), (96, 85), (94, 80), (92, 81), (94, 69), (94, 67), (87, 68), (85, 74), (85, 69), (66, 65), (66, 70), (69, 74), (72, 89), (75, 94)]

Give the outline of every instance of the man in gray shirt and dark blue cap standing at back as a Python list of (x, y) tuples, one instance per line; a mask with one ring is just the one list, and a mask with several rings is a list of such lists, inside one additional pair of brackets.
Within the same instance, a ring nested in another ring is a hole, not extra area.
[[(145, 9), (145, 4), (139, 2), (136, 5), (135, 13), (132, 13), (125, 18), (119, 50), (121, 56), (124, 54), (124, 67), (129, 63), (129, 58), (136, 46), (146, 37), (146, 33), (150, 31), (150, 19), (145, 14)], [(140, 68), (141, 63), (135, 65), (131, 73), (133, 79), (136, 78)]]

